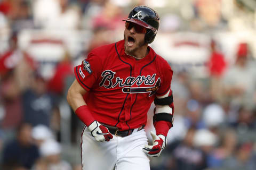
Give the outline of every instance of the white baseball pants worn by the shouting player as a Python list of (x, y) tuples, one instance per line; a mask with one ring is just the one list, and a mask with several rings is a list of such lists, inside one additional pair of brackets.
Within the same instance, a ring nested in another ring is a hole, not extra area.
[(149, 170), (149, 158), (142, 151), (147, 143), (145, 130), (134, 129), (127, 137), (116, 137), (108, 142), (96, 141), (84, 128), (81, 138), (83, 170)]

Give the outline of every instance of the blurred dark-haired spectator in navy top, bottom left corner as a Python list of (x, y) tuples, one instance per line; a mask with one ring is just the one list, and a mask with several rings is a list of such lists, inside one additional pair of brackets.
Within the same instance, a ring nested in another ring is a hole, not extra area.
[(23, 169), (30, 169), (39, 158), (39, 150), (32, 143), (31, 125), (22, 123), (17, 130), (17, 137), (7, 143), (3, 151), (4, 169), (13, 165), (22, 166)]

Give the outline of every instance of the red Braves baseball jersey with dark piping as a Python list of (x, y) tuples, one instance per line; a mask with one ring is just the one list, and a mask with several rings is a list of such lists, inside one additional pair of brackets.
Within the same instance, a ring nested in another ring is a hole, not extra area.
[(121, 130), (146, 125), (151, 103), (170, 90), (173, 74), (170, 65), (148, 48), (148, 55), (136, 60), (126, 55), (121, 40), (93, 49), (74, 68), (95, 120)]

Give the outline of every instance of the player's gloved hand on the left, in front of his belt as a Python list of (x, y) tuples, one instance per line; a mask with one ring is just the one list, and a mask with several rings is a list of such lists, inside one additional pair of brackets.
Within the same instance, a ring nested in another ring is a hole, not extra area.
[(98, 121), (92, 122), (88, 126), (88, 129), (92, 133), (92, 136), (99, 142), (109, 141), (113, 138), (113, 135), (108, 131), (108, 128), (101, 125)]

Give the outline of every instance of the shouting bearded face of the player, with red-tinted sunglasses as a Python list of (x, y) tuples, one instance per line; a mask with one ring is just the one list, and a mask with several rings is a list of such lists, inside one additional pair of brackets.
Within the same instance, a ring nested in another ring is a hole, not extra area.
[(133, 54), (134, 52), (139, 50), (140, 47), (146, 46), (147, 44), (145, 43), (144, 40), (145, 33), (146, 28), (138, 24), (126, 21), (124, 30), (125, 52)]

